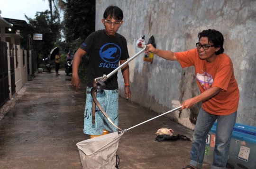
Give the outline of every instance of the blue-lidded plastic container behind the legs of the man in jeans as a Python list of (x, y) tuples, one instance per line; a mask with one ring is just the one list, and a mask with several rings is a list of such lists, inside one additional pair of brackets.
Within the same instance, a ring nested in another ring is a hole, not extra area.
[[(211, 143), (216, 136), (217, 122), (212, 126), (210, 144), (206, 145), (204, 162), (213, 162), (214, 144)], [(256, 127), (236, 123), (230, 140), (229, 160), (230, 169), (256, 169)]]

